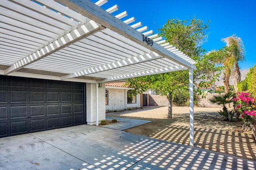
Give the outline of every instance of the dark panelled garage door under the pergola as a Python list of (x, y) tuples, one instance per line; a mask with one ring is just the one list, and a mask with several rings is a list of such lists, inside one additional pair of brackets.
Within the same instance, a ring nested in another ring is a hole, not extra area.
[(0, 75), (0, 137), (85, 123), (85, 84)]

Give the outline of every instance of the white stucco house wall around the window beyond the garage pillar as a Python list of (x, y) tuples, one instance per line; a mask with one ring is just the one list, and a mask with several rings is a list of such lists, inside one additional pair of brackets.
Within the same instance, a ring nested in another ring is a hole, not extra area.
[(123, 110), (130, 107), (140, 107), (140, 94), (137, 94), (135, 104), (127, 104), (127, 91), (129, 89), (106, 89), (108, 90), (108, 105), (106, 105), (106, 110)]

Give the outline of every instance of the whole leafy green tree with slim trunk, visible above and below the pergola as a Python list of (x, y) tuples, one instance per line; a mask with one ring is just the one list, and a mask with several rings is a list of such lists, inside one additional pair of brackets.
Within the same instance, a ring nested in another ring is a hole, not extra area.
[[(174, 45), (197, 62), (197, 70), (194, 71), (194, 78), (200, 80), (201, 84), (204, 84), (202, 82), (210, 82), (212, 84), (214, 81), (212, 78), (208, 80), (208, 77), (205, 76), (206, 68), (209, 68), (209, 70), (210, 68), (215, 69), (215, 64), (210, 62), (210, 59), (203, 59), (205, 55), (203, 54), (204, 49), (202, 48), (202, 44), (208, 37), (209, 22), (210, 21), (204, 24), (202, 20), (196, 18), (192, 18), (189, 23), (188, 20), (172, 19), (168, 20), (162, 29), (159, 29), (160, 36), (165, 37), (167, 42)], [(168, 117), (172, 118), (172, 95), (174, 95), (177, 90), (179, 90), (179, 92), (188, 92), (189, 75), (188, 70), (182, 70), (130, 78), (127, 84), (130, 84), (130, 87), (137, 90), (137, 92), (146, 91), (151, 88), (158, 90), (162, 95), (168, 96)], [(198, 92), (201, 92), (200, 89)]]

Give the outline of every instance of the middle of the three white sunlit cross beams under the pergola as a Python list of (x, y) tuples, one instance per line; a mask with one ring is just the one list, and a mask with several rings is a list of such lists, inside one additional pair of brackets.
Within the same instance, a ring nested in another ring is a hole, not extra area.
[(89, 68), (89, 69), (86, 69), (86, 70), (74, 72), (72, 74), (61, 76), (61, 79), (66, 80), (68, 78), (74, 78), (74, 77), (78, 77), (78, 76), (94, 74), (94, 73), (97, 73), (97, 72), (104, 72), (104, 71), (107, 71), (107, 70), (113, 70), (113, 69), (116, 69), (116, 68), (121, 68), (121, 67), (124, 67), (124, 66), (139, 64), (139, 63), (143, 63), (143, 62), (146, 62), (146, 61), (152, 61), (152, 60), (160, 59), (160, 58), (161, 58), (161, 56), (156, 54), (156, 53), (146, 54), (144, 56), (140, 55), (139, 57), (133, 57), (131, 59), (116, 61), (115, 63), (105, 64), (105, 65), (102, 65), (102, 66), (98, 66), (98, 67)]

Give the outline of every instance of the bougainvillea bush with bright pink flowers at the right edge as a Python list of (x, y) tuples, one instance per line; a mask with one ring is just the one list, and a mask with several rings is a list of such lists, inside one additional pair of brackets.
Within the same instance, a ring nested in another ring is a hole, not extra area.
[(234, 97), (234, 109), (247, 127), (256, 123), (256, 98), (252, 94), (238, 92)]

